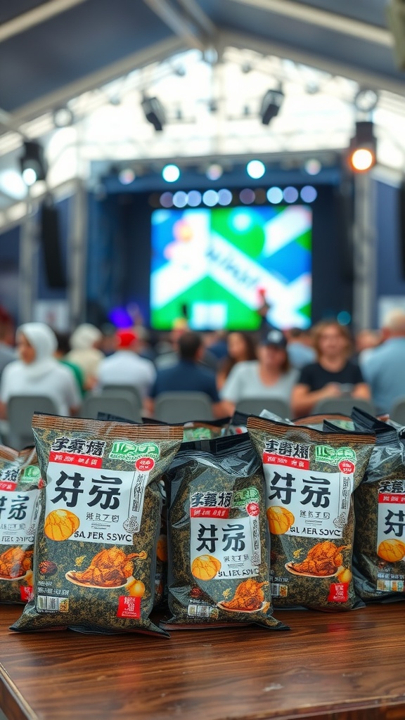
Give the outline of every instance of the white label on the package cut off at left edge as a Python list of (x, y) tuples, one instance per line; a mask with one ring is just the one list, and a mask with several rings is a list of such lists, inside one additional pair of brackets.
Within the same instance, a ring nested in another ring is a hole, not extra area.
[(40, 490), (0, 490), (0, 544), (18, 545), (34, 541)]

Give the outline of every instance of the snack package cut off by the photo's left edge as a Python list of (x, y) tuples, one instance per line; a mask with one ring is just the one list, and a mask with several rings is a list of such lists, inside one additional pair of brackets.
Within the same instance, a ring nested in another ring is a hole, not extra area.
[(35, 448), (0, 445), (0, 603), (26, 603), (32, 595), (41, 486)]

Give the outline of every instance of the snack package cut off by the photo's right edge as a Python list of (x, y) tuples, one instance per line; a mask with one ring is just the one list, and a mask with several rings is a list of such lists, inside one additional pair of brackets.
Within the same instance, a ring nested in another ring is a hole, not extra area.
[(365, 481), (355, 491), (355, 589), (362, 600), (404, 599), (405, 457), (398, 431), (356, 409), (358, 428), (373, 429), (376, 444)]

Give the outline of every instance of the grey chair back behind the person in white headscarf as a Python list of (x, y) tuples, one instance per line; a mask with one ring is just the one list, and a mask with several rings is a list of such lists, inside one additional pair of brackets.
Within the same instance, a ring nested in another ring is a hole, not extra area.
[(55, 402), (45, 395), (13, 395), (9, 398), (7, 402), (9, 446), (21, 450), (26, 445), (34, 444), (31, 427), (34, 413), (58, 415), (58, 408)]

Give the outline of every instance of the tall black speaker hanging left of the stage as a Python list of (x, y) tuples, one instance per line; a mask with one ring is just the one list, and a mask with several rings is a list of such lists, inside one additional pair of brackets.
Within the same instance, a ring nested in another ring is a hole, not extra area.
[(66, 288), (59, 214), (57, 208), (52, 204), (43, 204), (40, 210), (40, 242), (43, 248), (48, 287)]

